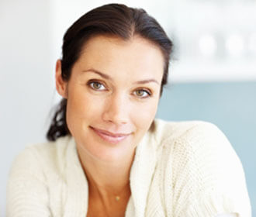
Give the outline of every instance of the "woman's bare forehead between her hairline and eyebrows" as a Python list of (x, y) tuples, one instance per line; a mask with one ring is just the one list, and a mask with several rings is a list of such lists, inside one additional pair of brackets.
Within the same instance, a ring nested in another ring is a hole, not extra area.
[(82, 48), (78, 65), (110, 73), (123, 71), (162, 75), (164, 56), (159, 47), (140, 36), (133, 36), (130, 40), (94, 36)]

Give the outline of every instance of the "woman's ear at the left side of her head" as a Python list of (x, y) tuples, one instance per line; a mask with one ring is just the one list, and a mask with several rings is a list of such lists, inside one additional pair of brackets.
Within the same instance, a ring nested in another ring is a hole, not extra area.
[(55, 84), (56, 90), (63, 98), (67, 98), (67, 81), (61, 76), (61, 60), (57, 60), (55, 68)]

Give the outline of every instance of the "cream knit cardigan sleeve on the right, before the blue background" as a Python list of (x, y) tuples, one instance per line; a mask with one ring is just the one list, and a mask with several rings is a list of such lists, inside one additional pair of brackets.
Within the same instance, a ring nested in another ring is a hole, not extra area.
[(220, 129), (199, 122), (176, 141), (175, 156), (174, 216), (251, 217), (242, 164)]

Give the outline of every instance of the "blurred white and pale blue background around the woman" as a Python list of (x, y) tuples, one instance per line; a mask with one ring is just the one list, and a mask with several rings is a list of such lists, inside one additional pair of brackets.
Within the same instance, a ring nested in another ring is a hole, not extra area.
[[(0, 216), (12, 160), (45, 141), (60, 98), (54, 67), (62, 37), (81, 15), (111, 1), (0, 1)], [(175, 43), (157, 117), (215, 123), (244, 166), (256, 216), (256, 1), (115, 1), (146, 9)]]

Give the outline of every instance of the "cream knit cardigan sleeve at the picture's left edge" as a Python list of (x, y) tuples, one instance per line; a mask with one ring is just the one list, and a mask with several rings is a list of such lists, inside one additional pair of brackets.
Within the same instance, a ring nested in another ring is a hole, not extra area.
[(28, 147), (12, 163), (7, 186), (8, 217), (48, 217), (47, 184), (36, 150)]

